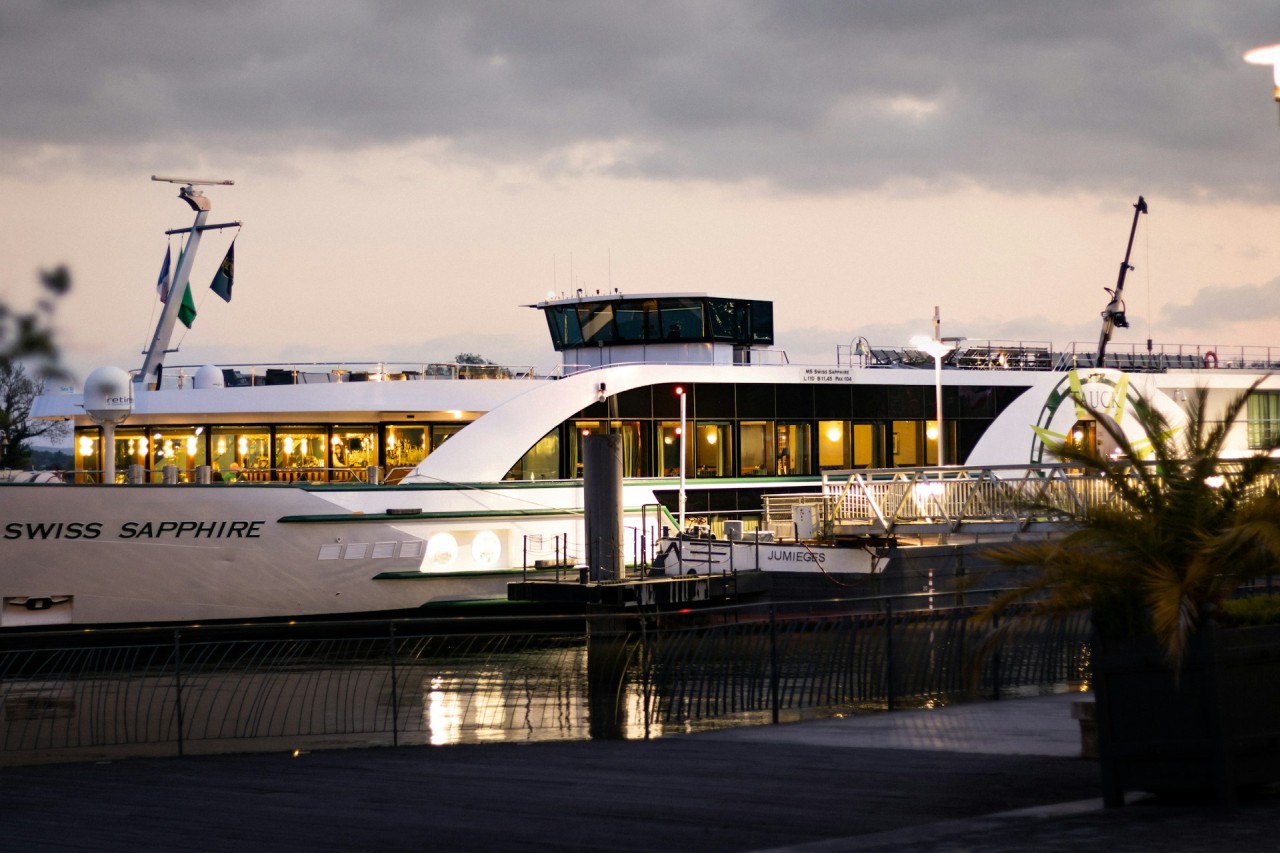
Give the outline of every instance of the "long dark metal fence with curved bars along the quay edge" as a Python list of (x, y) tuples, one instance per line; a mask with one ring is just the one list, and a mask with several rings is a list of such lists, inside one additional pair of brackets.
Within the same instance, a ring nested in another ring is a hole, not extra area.
[(292, 625), (251, 637), (243, 628), (22, 634), (0, 652), (0, 763), (652, 738), (1088, 679), (1083, 617), (1025, 620), (986, 649), (974, 608), (874, 603), (858, 613), (774, 605)]

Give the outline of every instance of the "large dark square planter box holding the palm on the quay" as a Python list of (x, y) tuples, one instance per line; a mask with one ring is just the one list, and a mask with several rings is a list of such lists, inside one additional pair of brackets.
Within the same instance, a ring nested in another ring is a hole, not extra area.
[(1093, 640), (1102, 795), (1208, 790), (1280, 779), (1280, 625), (1222, 629), (1192, 640), (1175, 678), (1149, 638)]

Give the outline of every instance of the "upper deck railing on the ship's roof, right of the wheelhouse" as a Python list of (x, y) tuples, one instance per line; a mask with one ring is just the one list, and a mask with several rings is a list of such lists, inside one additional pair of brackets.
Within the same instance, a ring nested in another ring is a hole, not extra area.
[[(1076, 370), (1093, 368), (1094, 343), (1055, 347), (1048, 341), (965, 341), (942, 360), (943, 368), (969, 370)], [(919, 350), (877, 347), (865, 341), (836, 347), (840, 365), (860, 368), (933, 368)], [(1280, 347), (1155, 343), (1110, 345), (1105, 368), (1128, 373), (1167, 370), (1280, 370)]]

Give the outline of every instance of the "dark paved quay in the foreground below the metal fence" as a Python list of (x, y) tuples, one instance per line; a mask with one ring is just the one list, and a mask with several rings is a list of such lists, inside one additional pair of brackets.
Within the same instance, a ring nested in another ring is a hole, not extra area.
[(652, 740), (0, 770), (12, 850), (1270, 850), (1280, 790), (1103, 809), (1065, 693)]

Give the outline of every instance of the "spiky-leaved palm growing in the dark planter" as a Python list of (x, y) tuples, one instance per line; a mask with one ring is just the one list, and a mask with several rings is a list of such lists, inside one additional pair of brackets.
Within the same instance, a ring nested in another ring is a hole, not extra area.
[(1139, 439), (1078, 398), (1119, 453), (1070, 442), (1053, 450), (1102, 478), (1112, 500), (1080, 511), (1060, 539), (993, 549), (998, 562), (1039, 571), (993, 601), (987, 616), (1015, 603), (1038, 613), (1091, 608), (1103, 637), (1155, 635), (1180, 666), (1189, 638), (1206, 620), (1221, 619), (1222, 602), (1243, 581), (1280, 570), (1280, 491), (1270, 455), (1280, 442), (1239, 461), (1221, 459), (1260, 383), (1217, 420), (1208, 418), (1207, 389), (1197, 391), (1181, 428), (1139, 400)]

